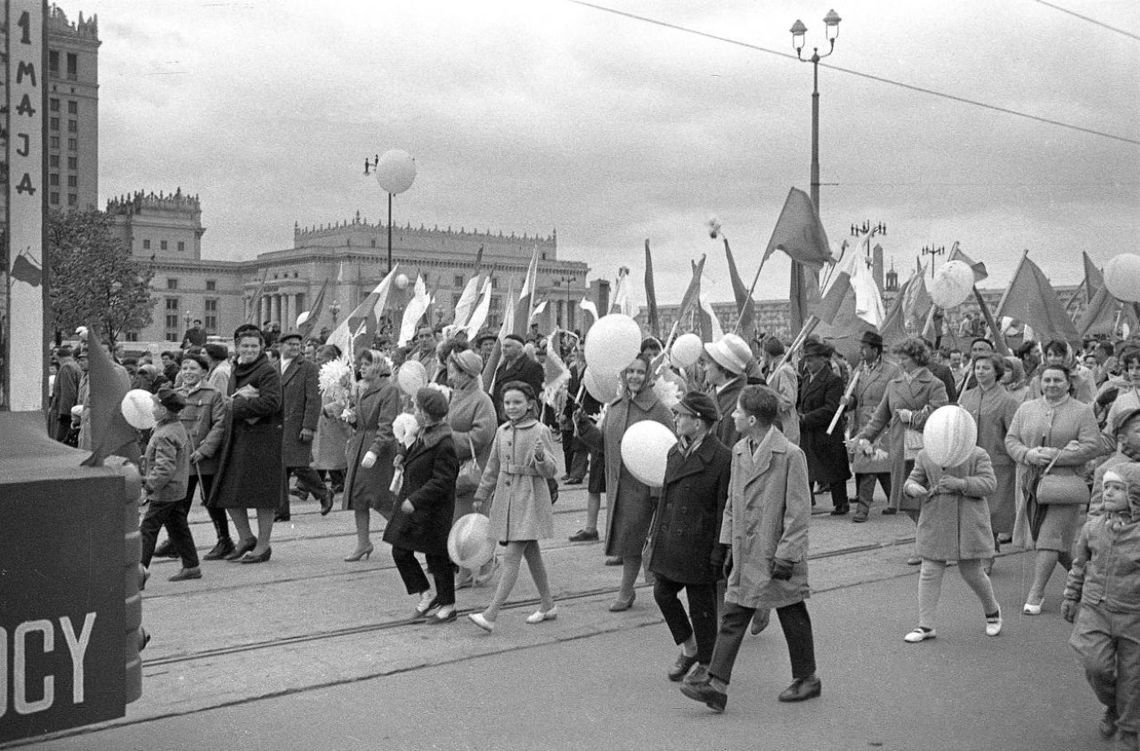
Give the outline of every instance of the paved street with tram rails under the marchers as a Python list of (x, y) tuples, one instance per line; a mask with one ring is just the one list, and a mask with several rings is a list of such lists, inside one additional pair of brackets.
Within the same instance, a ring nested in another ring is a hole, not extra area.
[[(814, 516), (809, 610), (822, 699), (775, 701), (790, 674), (773, 627), (746, 642), (728, 710), (714, 716), (665, 678), (676, 651), (649, 587), (633, 610), (606, 611), (618, 570), (602, 565), (601, 545), (565, 541), (584, 508), (585, 491), (563, 491), (557, 538), (544, 550), (560, 618), (522, 622), (535, 602), (523, 572), (494, 635), (463, 619), (406, 623), (414, 603), (380, 536), (370, 561), (343, 563), (351, 515), (321, 519), (311, 501), (275, 530), (267, 565), (206, 563), (202, 580), (176, 585), (165, 578), (177, 562), (161, 562), (146, 593), (154, 640), (142, 699), (121, 720), (28, 748), (1109, 748), (1066, 644), (1059, 577), (1043, 615), (1019, 614), (1027, 555), (995, 568), (1000, 637), (983, 634), (979, 606), (952, 569), (938, 638), (907, 645), (917, 619), (917, 569), (904, 563), (911, 522)], [(209, 520), (198, 508), (193, 519), (207, 548)], [(459, 606), (481, 609), (489, 596), (463, 590)]]

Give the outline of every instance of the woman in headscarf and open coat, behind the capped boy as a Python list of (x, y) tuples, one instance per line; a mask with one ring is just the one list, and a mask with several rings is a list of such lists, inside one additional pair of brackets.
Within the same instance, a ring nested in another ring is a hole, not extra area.
[(605, 462), (605, 496), (609, 514), (605, 525), (605, 555), (621, 560), (621, 586), (610, 611), (629, 610), (636, 591), (634, 585), (641, 571), (642, 548), (649, 534), (656, 498), (659, 491), (637, 480), (621, 460), (621, 436), (634, 423), (653, 419), (670, 431), (673, 415), (653, 391), (650, 360), (643, 354), (621, 372), (621, 395), (612, 402), (600, 426), (579, 422), (583, 440), (601, 447)]

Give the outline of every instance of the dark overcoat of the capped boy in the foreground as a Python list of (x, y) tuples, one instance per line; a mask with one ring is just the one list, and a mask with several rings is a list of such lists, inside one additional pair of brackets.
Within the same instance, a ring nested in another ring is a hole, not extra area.
[(728, 497), (732, 451), (709, 433), (687, 457), (669, 449), (665, 485), (650, 532), (649, 570), (686, 585), (716, 583), (712, 548)]

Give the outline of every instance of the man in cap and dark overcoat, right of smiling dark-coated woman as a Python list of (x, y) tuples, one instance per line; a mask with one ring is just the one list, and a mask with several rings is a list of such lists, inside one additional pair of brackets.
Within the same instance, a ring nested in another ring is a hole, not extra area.
[(282, 345), (282, 408), (284, 411), (282, 434), (282, 464), (285, 476), (275, 521), (290, 520), (288, 477), (294, 475), (298, 487), (308, 497), (312, 493), (320, 500), (320, 514), (333, 509), (333, 491), (312, 464), (312, 436), (317, 434), (320, 421), (320, 390), (317, 387), (318, 368), (301, 356), (302, 337), (288, 332), (280, 338)]

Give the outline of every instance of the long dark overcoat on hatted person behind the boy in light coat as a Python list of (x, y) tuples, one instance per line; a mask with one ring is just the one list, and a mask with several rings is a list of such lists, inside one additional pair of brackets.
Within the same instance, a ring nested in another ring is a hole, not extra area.
[(847, 447), (844, 446), (844, 428), (847, 417), (836, 423), (828, 435), (828, 425), (839, 409), (844, 397), (844, 381), (824, 366), (819, 373), (805, 375), (799, 384), (799, 448), (807, 458), (807, 473), (815, 482), (830, 484), (852, 476), (847, 466)]

